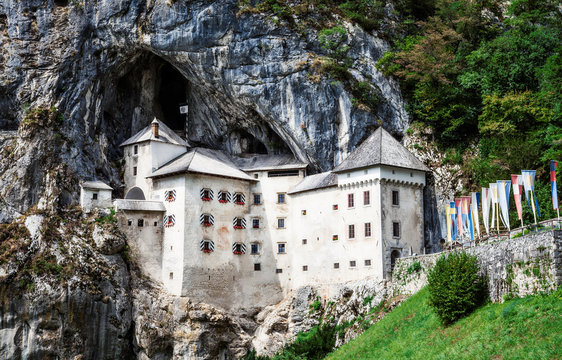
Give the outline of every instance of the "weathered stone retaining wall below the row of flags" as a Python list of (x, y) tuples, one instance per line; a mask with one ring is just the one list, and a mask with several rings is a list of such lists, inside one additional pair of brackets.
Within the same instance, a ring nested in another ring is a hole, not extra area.
[[(466, 251), (476, 255), (488, 275), (490, 298), (525, 296), (556, 289), (562, 284), (562, 231), (554, 230), (479, 245)], [(443, 253), (397, 259), (392, 274), (394, 294), (413, 294), (427, 284), (427, 272)], [(419, 265), (418, 265), (419, 264)]]

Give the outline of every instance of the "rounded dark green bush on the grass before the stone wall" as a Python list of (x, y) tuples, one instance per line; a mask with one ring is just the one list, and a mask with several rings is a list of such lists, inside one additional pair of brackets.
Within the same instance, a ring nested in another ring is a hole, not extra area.
[(444, 325), (469, 315), (488, 299), (487, 278), (475, 256), (455, 252), (441, 256), (428, 274), (429, 305)]

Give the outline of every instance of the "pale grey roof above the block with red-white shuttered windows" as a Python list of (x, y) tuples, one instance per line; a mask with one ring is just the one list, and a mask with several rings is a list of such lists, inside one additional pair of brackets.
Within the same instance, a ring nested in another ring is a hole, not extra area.
[(205, 148), (193, 148), (163, 165), (148, 177), (161, 177), (185, 172), (256, 181), (253, 177), (240, 171), (223, 152)]

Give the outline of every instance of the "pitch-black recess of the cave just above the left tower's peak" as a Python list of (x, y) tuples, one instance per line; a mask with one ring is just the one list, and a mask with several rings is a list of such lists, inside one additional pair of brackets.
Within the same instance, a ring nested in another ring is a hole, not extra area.
[(180, 106), (187, 103), (188, 82), (169, 63), (160, 67), (159, 75), (158, 102), (162, 110), (162, 121), (172, 130), (183, 131), (186, 115), (180, 113)]

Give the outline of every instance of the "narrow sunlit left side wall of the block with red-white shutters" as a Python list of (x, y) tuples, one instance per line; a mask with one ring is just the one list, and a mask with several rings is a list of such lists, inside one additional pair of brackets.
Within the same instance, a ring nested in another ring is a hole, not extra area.
[[(164, 197), (166, 191), (176, 190), (176, 201), (168, 202)], [(158, 196), (166, 208), (164, 215), (175, 215), (176, 223), (172, 227), (163, 227), (162, 272), (161, 279), (173, 295), (182, 294), (184, 267), (184, 234), (189, 232), (185, 218), (186, 179), (185, 175), (171, 176), (154, 181), (152, 196)], [(161, 220), (163, 221), (163, 220)], [(162, 224), (164, 225), (164, 224)], [(170, 276), (172, 274), (172, 276)]]

